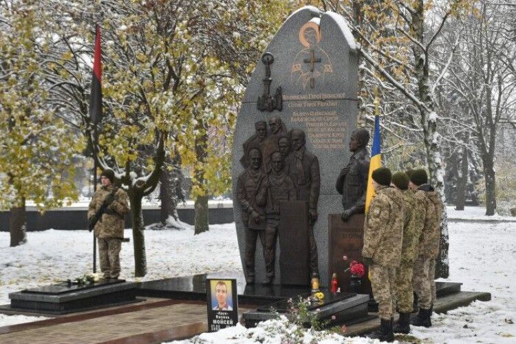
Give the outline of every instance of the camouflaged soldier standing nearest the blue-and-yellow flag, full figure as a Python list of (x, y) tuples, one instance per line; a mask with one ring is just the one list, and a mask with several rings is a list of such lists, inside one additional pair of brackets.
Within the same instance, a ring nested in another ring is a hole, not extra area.
[(372, 179), (376, 196), (365, 217), (362, 257), (369, 266), (381, 325), (380, 330), (371, 337), (392, 341), (396, 300), (394, 280), (396, 268), (400, 265), (403, 236), (403, 197), (400, 191), (390, 186), (391, 171), (386, 167), (374, 170)]

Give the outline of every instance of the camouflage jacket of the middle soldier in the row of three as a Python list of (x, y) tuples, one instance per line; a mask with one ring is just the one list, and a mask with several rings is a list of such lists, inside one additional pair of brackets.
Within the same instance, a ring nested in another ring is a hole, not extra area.
[(411, 189), (402, 191), (405, 223), (403, 224), (403, 245), (401, 248), (401, 264), (412, 264), (418, 257), (419, 237), (422, 229), (422, 202), (416, 200)]

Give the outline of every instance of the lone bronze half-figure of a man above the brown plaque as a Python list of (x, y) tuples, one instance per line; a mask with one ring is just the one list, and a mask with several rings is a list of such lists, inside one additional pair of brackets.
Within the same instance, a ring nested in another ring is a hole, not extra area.
[(350, 162), (338, 175), (335, 187), (342, 195), (343, 221), (347, 221), (354, 214), (363, 214), (365, 210), (365, 189), (369, 175), (369, 131), (357, 129), (350, 138)]

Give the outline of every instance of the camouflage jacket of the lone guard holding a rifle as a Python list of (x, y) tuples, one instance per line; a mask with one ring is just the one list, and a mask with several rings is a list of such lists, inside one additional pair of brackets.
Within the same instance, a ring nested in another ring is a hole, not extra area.
[[(88, 219), (95, 215), (96, 211), (102, 206), (105, 198), (113, 191), (113, 186), (101, 187), (89, 202)], [(129, 197), (122, 189), (115, 193), (115, 200), (107, 207), (94, 228), (96, 237), (124, 237), (124, 215), (129, 213)]]

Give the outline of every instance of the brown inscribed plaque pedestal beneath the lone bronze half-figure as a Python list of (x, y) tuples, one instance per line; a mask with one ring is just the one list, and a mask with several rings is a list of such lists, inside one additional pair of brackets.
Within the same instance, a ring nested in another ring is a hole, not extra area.
[[(347, 222), (343, 222), (341, 214), (328, 215), (329, 240), (328, 261), (330, 266), (328, 274), (332, 281), (332, 274), (336, 272), (338, 286), (341, 292), (350, 292), (350, 275), (345, 271), (352, 260), (362, 261), (362, 247), (364, 245), (364, 214), (352, 215)], [(343, 259), (347, 256), (347, 260)], [(365, 274), (362, 278), (361, 294), (372, 294), (371, 281), (369, 281), (368, 268), (364, 265)]]

